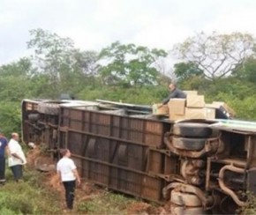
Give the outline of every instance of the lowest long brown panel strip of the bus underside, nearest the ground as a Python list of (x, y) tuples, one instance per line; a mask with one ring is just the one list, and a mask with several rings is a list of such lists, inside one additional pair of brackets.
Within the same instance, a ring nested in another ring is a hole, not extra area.
[(162, 201), (162, 179), (111, 165), (84, 160), (81, 170), (88, 180), (151, 201)]

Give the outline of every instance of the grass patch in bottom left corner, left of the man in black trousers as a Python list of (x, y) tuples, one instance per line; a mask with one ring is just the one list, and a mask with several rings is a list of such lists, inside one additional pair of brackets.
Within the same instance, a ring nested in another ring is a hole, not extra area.
[(24, 172), (24, 182), (12, 180), (8, 168), (4, 186), (0, 187), (0, 214), (60, 214), (60, 196), (42, 185), (45, 175)]

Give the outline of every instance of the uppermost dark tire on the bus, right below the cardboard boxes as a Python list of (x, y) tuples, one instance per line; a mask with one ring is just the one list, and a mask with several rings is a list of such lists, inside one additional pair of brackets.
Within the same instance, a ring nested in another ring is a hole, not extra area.
[(173, 134), (181, 137), (210, 137), (212, 129), (206, 123), (180, 122), (173, 125)]

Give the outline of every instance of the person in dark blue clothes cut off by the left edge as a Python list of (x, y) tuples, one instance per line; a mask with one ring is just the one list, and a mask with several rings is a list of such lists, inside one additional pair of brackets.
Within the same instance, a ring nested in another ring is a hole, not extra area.
[(0, 130), (0, 183), (5, 182), (5, 150), (8, 145), (8, 140), (4, 137), (3, 131)]

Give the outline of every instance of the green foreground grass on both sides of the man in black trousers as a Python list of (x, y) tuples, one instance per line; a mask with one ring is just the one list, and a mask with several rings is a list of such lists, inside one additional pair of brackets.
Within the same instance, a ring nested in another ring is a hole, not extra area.
[[(64, 193), (50, 188), (45, 183), (47, 177), (46, 174), (26, 168), (23, 182), (15, 182), (12, 179), (11, 170), (7, 168), (7, 182), (0, 187), (0, 215), (63, 214)], [(79, 189), (73, 212), (74, 214), (127, 214), (138, 204), (144, 203), (103, 189), (95, 188), (95, 192), (89, 196)], [(132, 213), (141, 214), (141, 212)]]

